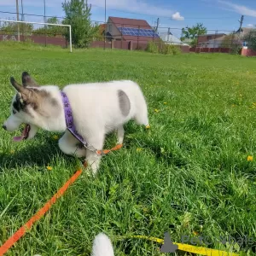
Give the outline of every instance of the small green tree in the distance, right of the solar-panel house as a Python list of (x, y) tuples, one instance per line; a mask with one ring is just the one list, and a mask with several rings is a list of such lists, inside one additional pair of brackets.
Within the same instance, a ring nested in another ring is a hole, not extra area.
[(183, 27), (182, 33), (183, 33), (183, 36), (180, 38), (181, 41), (183, 41), (185, 39), (190, 39), (191, 46), (195, 46), (196, 38), (199, 35), (207, 34), (207, 28), (205, 26), (203, 26), (202, 23), (196, 23), (196, 25), (192, 26), (192, 27), (188, 27), (188, 26), (186, 28)]

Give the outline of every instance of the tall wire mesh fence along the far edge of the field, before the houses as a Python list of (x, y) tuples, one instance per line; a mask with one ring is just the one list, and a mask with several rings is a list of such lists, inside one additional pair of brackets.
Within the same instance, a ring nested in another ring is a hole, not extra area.
[[(16, 20), (16, 13), (1, 12), (0, 19)], [(4, 15), (14, 17), (5, 18)], [(33, 20), (38, 22), (57, 23), (65, 17), (44, 16), (44, 15), (19, 15), (20, 20)], [(122, 21), (107, 22), (91, 21), (92, 26), (98, 30), (90, 47), (102, 47), (109, 49), (147, 49), (148, 44), (172, 44), (185, 52), (225, 52), (233, 53), (241, 50), (242, 47), (254, 49), (256, 45), (256, 30), (244, 29), (241, 31), (217, 31), (207, 30), (206, 35), (199, 35), (195, 38), (183, 38), (183, 30), (176, 27), (151, 27), (145, 24), (127, 24)], [(0, 41), (15, 40), (22, 42), (34, 42), (38, 44), (55, 44), (67, 47), (67, 27), (46, 26), (30, 24), (18, 24), (16, 22), (0, 21)]]

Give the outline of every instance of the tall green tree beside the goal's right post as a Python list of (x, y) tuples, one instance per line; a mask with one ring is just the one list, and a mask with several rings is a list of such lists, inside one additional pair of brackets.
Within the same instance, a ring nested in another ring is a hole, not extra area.
[[(63, 24), (72, 26), (72, 41), (77, 48), (87, 48), (98, 30), (97, 26), (90, 23), (90, 9), (87, 0), (70, 0), (62, 3), (62, 8), (66, 13)], [(66, 33), (69, 40), (69, 33)]]

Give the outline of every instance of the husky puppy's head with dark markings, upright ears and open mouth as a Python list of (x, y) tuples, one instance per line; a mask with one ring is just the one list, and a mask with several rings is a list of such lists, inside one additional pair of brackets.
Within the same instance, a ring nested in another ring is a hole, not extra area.
[(38, 131), (40, 118), (47, 117), (44, 102), (49, 93), (46, 90), (40, 90), (38, 84), (30, 77), (29, 73), (23, 72), (21, 75), (22, 85), (18, 84), (13, 77), (10, 83), (16, 90), (10, 106), (10, 116), (3, 123), (3, 129), (6, 131), (15, 131), (21, 124), (26, 124), (20, 137), (15, 137), (15, 141), (30, 139)]

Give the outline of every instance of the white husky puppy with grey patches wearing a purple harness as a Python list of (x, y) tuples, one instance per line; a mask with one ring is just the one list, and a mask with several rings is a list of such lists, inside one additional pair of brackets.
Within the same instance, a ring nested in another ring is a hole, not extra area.
[[(135, 82), (68, 84), (60, 90), (55, 85), (39, 86), (27, 72), (22, 73), (21, 79), (22, 85), (10, 79), (16, 94), (3, 129), (15, 131), (26, 124), (15, 141), (31, 139), (38, 128), (63, 131), (59, 140), (61, 150), (84, 157), (94, 173), (101, 158), (96, 150), (102, 150), (109, 132), (117, 131), (118, 143), (123, 143), (126, 122), (134, 119), (138, 125), (148, 125), (147, 103)], [(73, 130), (68, 130), (68, 125)], [(75, 136), (70, 131), (75, 131)], [(87, 147), (81, 147), (81, 140)]]

